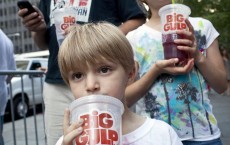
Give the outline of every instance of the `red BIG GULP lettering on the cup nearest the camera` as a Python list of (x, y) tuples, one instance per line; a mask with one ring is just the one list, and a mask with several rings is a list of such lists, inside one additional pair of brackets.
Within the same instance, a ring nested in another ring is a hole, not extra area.
[[(114, 118), (108, 112), (92, 111), (80, 116), (84, 120), (84, 132), (76, 137), (77, 145), (110, 144), (118, 142), (118, 131), (114, 128)], [(118, 144), (118, 143), (117, 143)]]

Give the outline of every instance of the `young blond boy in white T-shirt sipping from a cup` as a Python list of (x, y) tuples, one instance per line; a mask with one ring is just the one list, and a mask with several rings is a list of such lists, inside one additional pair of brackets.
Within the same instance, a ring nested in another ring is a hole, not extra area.
[[(123, 145), (182, 145), (168, 124), (138, 116), (128, 109), (125, 88), (132, 83), (136, 70), (132, 47), (118, 28), (104, 22), (70, 28), (61, 45), (58, 62), (75, 99), (102, 94), (123, 102)], [(69, 124), (69, 117), (70, 112), (66, 110), (64, 136), (56, 145), (71, 145), (83, 131), (83, 120)]]

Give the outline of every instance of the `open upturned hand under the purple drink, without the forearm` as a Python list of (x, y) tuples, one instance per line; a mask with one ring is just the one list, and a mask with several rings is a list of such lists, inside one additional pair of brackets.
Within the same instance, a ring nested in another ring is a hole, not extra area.
[(168, 60), (158, 60), (154, 66), (159, 74), (167, 73), (171, 75), (180, 75), (190, 72), (194, 66), (194, 59), (191, 58), (184, 66), (176, 66), (179, 61), (178, 58)]

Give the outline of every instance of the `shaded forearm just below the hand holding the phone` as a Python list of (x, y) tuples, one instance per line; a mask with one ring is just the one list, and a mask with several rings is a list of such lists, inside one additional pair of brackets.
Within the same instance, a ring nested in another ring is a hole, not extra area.
[(34, 42), (42, 50), (48, 49), (45, 34), (46, 34), (46, 30), (40, 32), (32, 32), (32, 37), (34, 39)]

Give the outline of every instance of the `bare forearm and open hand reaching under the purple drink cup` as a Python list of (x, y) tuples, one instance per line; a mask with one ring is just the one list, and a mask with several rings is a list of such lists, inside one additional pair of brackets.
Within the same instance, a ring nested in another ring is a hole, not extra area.
[[(188, 63), (183, 67), (176, 67), (174, 65), (178, 63), (178, 61), (179, 60), (177, 58), (159, 60), (152, 65), (145, 75), (136, 80), (134, 83), (130, 84), (125, 90), (125, 97), (128, 107), (131, 107), (144, 96), (159, 75), (163, 73), (172, 75), (185, 74), (190, 72), (194, 66), (194, 59), (188, 60)], [(138, 69), (138, 65), (136, 66)]]

